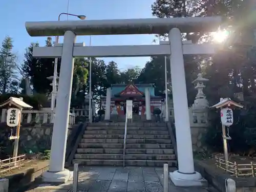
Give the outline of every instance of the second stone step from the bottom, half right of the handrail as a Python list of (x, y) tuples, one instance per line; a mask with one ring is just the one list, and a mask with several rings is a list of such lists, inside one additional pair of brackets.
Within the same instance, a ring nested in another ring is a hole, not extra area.
[(174, 154), (125, 154), (125, 160), (176, 160)]

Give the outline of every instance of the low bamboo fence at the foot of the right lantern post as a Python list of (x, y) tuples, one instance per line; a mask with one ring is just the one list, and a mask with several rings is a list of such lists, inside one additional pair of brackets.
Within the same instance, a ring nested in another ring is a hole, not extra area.
[(231, 176), (256, 176), (256, 164), (252, 161), (247, 164), (238, 164), (236, 161), (230, 162), (221, 158), (216, 159), (216, 166), (222, 168), (226, 172), (230, 173)]

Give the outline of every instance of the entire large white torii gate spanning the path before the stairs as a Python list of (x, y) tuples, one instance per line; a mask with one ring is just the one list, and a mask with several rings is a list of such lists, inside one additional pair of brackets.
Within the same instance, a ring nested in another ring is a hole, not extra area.
[[(31, 36), (64, 35), (63, 44), (56, 47), (34, 47), (34, 57), (61, 57), (58, 100), (53, 126), (51, 159), (45, 181), (66, 182), (69, 171), (64, 169), (68, 133), (74, 57), (120, 57), (171, 55), (173, 102), (175, 110), (176, 140), (179, 170), (170, 173), (176, 186), (201, 185), (204, 180), (195, 172), (187, 105), (183, 54), (213, 54), (209, 44), (194, 45), (183, 41), (181, 33), (214, 32), (221, 24), (221, 17), (146, 18), (116, 20), (78, 20), (61, 22), (27, 22)], [(110, 34), (163, 34), (169, 41), (160, 45), (95, 46), (75, 44), (76, 35)]]

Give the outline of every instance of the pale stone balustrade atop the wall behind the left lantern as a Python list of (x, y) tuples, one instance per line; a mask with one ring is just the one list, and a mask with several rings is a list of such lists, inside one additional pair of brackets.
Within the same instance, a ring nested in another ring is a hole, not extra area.
[[(1, 122), (6, 122), (7, 110), (2, 110)], [(23, 110), (21, 123), (53, 123), (54, 113), (49, 111)], [(75, 124), (75, 114), (69, 114), (69, 124)]]

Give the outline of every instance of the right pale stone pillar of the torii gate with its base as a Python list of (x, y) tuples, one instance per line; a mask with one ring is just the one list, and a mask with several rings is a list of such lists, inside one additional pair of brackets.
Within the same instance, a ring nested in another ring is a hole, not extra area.
[(170, 173), (176, 186), (202, 185), (202, 176), (195, 172), (192, 151), (187, 91), (184, 71), (181, 32), (178, 28), (169, 31), (170, 71), (174, 102), (174, 118), (178, 150), (179, 170)]

